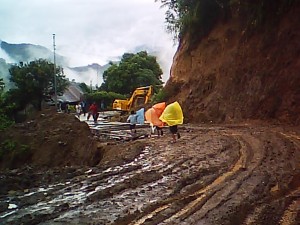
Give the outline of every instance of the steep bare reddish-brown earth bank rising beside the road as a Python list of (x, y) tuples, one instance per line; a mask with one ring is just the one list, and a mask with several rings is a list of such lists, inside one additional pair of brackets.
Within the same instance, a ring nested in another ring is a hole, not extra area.
[(181, 41), (166, 90), (189, 121), (300, 124), (300, 4), (294, 2), (280, 17), (280, 9), (270, 8), (259, 29), (247, 30), (233, 11), (193, 49)]

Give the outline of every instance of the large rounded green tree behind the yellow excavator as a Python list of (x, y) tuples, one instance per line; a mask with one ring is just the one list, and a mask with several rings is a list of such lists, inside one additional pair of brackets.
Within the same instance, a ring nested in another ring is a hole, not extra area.
[(146, 51), (125, 53), (119, 64), (104, 71), (100, 90), (129, 95), (137, 87), (162, 85), (161, 75), (156, 57)]

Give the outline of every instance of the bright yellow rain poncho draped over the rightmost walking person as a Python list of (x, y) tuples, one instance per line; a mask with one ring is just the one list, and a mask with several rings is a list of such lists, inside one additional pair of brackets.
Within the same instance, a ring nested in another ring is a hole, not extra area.
[(167, 105), (159, 119), (169, 126), (183, 124), (183, 113), (179, 103), (176, 101)]

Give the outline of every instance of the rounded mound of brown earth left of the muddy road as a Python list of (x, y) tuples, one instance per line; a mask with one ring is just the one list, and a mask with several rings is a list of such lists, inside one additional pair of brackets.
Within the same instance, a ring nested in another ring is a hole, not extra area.
[(1, 133), (1, 168), (96, 165), (101, 160), (88, 125), (73, 114), (44, 110)]

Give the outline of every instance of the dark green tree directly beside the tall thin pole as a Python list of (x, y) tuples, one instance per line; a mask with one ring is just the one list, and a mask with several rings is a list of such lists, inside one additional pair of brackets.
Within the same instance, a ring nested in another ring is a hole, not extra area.
[[(42, 101), (54, 93), (54, 64), (44, 59), (32, 61), (28, 64), (12, 66), (9, 69), (10, 81), (15, 88), (11, 89), (10, 95), (20, 107), (31, 103), (36, 109), (41, 110)], [(63, 69), (56, 67), (57, 93), (62, 93), (68, 81)]]

